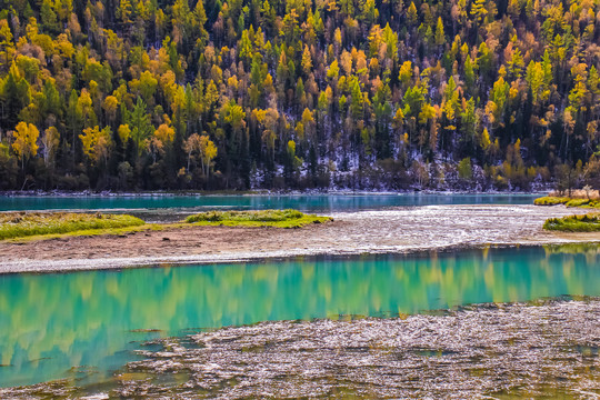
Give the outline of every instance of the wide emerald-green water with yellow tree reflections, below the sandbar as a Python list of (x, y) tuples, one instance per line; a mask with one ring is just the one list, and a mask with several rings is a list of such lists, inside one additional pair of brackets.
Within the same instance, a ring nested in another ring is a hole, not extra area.
[[(140, 341), (266, 320), (394, 316), (467, 303), (600, 296), (600, 250), (469, 250), (414, 256), (156, 267), (0, 277), (0, 386), (97, 371)], [(158, 330), (156, 332), (134, 330)]]

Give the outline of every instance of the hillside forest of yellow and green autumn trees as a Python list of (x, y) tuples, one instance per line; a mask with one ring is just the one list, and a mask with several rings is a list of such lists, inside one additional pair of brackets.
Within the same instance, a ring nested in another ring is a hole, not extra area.
[(599, 174), (598, 0), (0, 0), (0, 189)]

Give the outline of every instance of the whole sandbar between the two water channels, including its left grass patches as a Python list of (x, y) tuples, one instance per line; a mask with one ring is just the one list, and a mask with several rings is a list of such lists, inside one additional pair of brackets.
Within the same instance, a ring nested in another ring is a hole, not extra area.
[[(574, 218), (581, 222), (588, 211), (491, 204), (329, 216), (294, 210), (228, 211), (190, 214), (170, 223), (146, 223), (123, 214), (8, 212), (1, 216), (4, 240), (0, 251), (4, 257), (0, 273), (600, 241), (599, 232), (543, 229), (548, 220)], [(53, 224), (53, 220), (60, 223)], [(29, 227), (27, 234), (22, 227)]]

